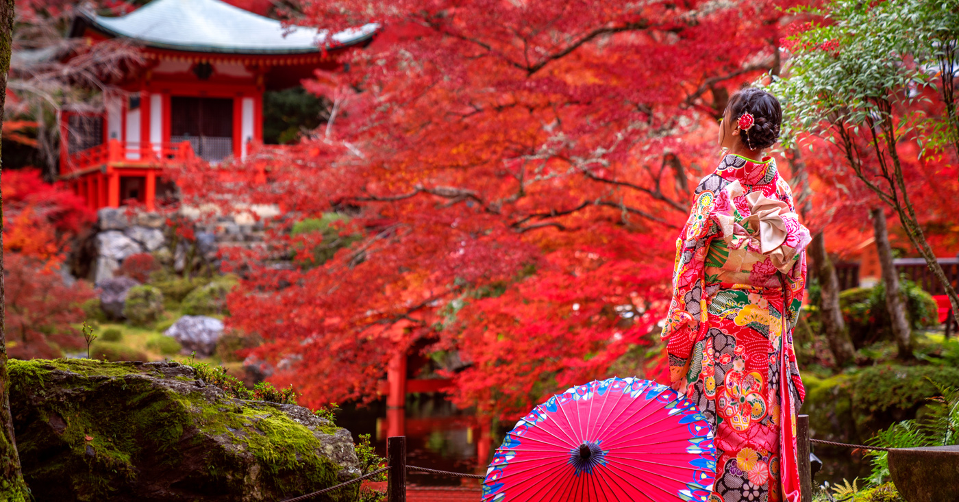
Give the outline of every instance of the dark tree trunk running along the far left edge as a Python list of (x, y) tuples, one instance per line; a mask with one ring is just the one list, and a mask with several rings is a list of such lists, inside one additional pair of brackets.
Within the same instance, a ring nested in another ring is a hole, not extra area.
[[(13, 0), (0, 0), (0, 126), (3, 125), (3, 110), (7, 98), (7, 73), (10, 72), (12, 35)], [(0, 499), (13, 502), (28, 500), (30, 491), (23, 481), (23, 472), (20, 470), (20, 457), (16, 453), (13, 419), (10, 415), (10, 373), (7, 370), (4, 295), (3, 194), (0, 192), (0, 429), (3, 429), (0, 431)]]

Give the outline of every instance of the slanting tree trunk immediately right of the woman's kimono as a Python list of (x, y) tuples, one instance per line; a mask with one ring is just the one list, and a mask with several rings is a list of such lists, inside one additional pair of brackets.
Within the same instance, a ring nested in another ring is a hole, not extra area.
[(822, 288), (819, 318), (823, 323), (823, 331), (829, 341), (836, 365), (842, 366), (853, 359), (855, 348), (849, 338), (849, 332), (846, 331), (846, 323), (842, 319), (842, 310), (839, 308), (839, 278), (826, 253), (826, 239), (822, 232), (812, 238), (808, 253), (816, 267), (816, 277)]

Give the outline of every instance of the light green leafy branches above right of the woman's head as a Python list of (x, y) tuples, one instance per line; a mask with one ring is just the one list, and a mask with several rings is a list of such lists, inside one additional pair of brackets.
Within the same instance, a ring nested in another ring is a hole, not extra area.
[(784, 104), (784, 147), (799, 131), (831, 138), (833, 125), (844, 125), (857, 132), (888, 116), (885, 100), (915, 101), (901, 90), (927, 85), (929, 76), (905, 64), (903, 53), (916, 34), (902, 31), (899, 16), (920, 3), (831, 0), (797, 9), (824, 20), (789, 38), (789, 77), (771, 85)]

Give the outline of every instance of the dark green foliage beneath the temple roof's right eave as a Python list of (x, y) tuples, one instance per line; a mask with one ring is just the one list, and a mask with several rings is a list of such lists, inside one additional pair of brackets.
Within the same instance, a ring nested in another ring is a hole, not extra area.
[(263, 142), (295, 143), (302, 130), (316, 129), (329, 113), (324, 100), (296, 86), (263, 93)]

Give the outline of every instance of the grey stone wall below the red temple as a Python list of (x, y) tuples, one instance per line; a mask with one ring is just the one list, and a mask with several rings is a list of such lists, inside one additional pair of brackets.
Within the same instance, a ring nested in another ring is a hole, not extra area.
[(194, 241), (177, 239), (167, 218), (157, 213), (103, 208), (97, 212), (92, 233), (79, 246), (74, 274), (99, 284), (114, 277), (123, 262), (138, 253), (152, 253), (159, 262), (172, 264), (177, 272), (187, 266), (188, 260), (193, 266), (199, 261), (216, 267), (221, 246), (250, 247), (264, 241), (263, 223), (251, 217), (187, 219), (194, 221)]

